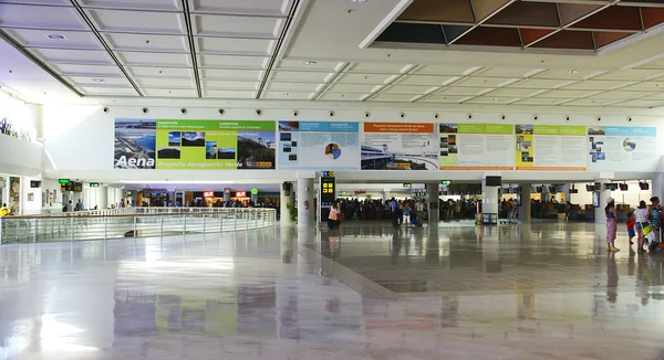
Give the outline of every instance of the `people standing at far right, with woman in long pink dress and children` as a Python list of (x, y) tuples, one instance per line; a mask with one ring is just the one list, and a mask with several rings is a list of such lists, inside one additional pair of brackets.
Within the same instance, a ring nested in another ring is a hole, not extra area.
[[(634, 244), (633, 239), (636, 237), (636, 252), (639, 253), (645, 253), (644, 246), (646, 245), (651, 252), (661, 250), (661, 231), (664, 220), (662, 204), (657, 197), (651, 198), (650, 201), (651, 204), (649, 205), (644, 200), (641, 200), (639, 207), (627, 213), (626, 226), (630, 246)], [(620, 248), (615, 247), (618, 208), (613, 198), (606, 199), (604, 213), (606, 214), (606, 251), (619, 252)]]

